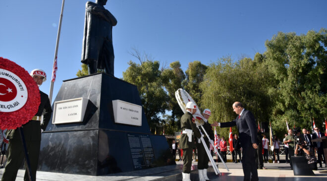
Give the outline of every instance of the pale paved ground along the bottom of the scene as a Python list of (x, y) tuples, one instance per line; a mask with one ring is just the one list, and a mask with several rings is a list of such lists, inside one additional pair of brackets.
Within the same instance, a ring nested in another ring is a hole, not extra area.
[[(73, 174), (59, 174), (49, 172), (37, 172), (37, 181), (181, 181), (182, 162), (177, 165), (160, 168), (146, 169), (142, 171), (125, 172), (106, 176), (84, 176)], [(209, 178), (211, 181), (243, 181), (243, 170), (240, 163), (226, 163), (229, 172), (222, 163), (218, 163), (220, 175), (216, 176), (213, 169), (210, 169)], [(324, 165), (323, 165), (324, 166)], [(260, 181), (326, 181), (327, 168), (314, 171), (316, 176), (294, 176), (289, 169), (289, 164), (265, 164), (267, 170), (258, 170)], [(191, 173), (192, 181), (198, 181), (197, 162), (193, 163)], [(2, 176), (3, 169), (0, 169)], [(24, 171), (19, 170), (16, 181), (23, 181)]]

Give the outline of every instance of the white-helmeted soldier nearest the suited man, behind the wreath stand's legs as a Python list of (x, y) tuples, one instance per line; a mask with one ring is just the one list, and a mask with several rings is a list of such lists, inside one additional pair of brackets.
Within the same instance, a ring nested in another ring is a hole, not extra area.
[[(210, 149), (210, 142), (209, 140), (214, 143), (215, 135), (214, 131), (211, 128), (211, 124), (208, 122), (208, 119), (211, 116), (211, 111), (210, 109), (205, 109), (203, 110), (203, 117), (205, 118), (204, 124), (202, 125), (203, 128), (206, 130), (206, 132), (209, 135), (209, 138), (205, 134), (204, 130), (202, 127), (199, 127), (201, 129), (202, 134), (204, 134), (204, 140), (206, 142), (206, 145), (208, 149)], [(209, 178), (207, 176), (207, 171), (208, 171), (208, 163), (209, 163), (209, 157), (207, 155), (207, 152), (203, 146), (203, 143), (201, 143), (201, 139), (198, 139), (196, 142), (196, 147), (198, 149), (198, 170), (199, 170), (199, 180), (200, 181), (209, 181)]]

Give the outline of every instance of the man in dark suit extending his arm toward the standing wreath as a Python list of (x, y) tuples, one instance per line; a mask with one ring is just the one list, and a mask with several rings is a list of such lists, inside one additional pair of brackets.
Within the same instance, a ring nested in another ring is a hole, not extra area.
[(253, 114), (243, 108), (242, 103), (233, 104), (234, 112), (239, 115), (230, 122), (219, 122), (220, 127), (237, 126), (242, 147), (242, 167), (244, 181), (258, 181), (255, 152), (258, 148), (257, 127)]

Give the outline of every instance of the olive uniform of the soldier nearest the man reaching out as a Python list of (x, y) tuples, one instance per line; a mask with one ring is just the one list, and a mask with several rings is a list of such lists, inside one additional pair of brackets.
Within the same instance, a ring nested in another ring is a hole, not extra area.
[[(214, 140), (215, 135), (214, 135), (214, 131), (211, 128), (211, 124), (209, 122), (205, 122), (202, 126), (208, 133), (210, 139)], [(200, 129), (201, 129), (202, 134), (204, 134), (204, 140), (208, 147), (208, 150), (210, 150), (209, 139), (208, 139), (207, 135), (205, 134), (205, 132), (202, 130), (202, 127), (200, 127)], [(198, 170), (208, 169), (209, 157), (208, 157), (208, 154), (207, 154), (202, 142), (199, 143), (199, 141), (197, 140), (196, 147), (198, 149)]]

